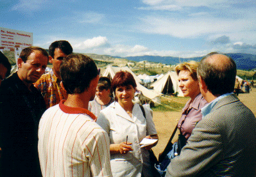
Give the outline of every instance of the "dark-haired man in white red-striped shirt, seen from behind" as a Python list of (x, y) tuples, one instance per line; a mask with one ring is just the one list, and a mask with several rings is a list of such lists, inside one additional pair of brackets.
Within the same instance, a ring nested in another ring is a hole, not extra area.
[(60, 67), (67, 100), (44, 112), (38, 129), (43, 176), (112, 176), (110, 140), (88, 111), (99, 75), (88, 56), (69, 54)]

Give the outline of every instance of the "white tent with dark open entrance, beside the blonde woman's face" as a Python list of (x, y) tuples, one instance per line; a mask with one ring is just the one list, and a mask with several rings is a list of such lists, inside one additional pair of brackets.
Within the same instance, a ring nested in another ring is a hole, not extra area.
[(158, 93), (177, 93), (177, 96), (184, 96), (178, 86), (178, 75), (176, 72), (167, 72), (161, 79), (151, 84)]

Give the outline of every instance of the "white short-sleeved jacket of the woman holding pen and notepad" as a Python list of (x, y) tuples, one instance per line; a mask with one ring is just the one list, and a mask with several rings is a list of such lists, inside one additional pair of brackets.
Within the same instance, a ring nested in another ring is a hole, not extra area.
[[(150, 162), (148, 150), (140, 148), (139, 142), (146, 135), (157, 134), (150, 111), (143, 106), (146, 118), (144, 118), (139, 104), (135, 104), (132, 110), (132, 118), (124, 111), (123, 107), (114, 102), (99, 114), (97, 123), (107, 132), (110, 144), (119, 144), (126, 141), (132, 142), (133, 151), (127, 154), (110, 155), (110, 165), (113, 176), (150, 176)], [(146, 175), (149, 173), (148, 175)]]

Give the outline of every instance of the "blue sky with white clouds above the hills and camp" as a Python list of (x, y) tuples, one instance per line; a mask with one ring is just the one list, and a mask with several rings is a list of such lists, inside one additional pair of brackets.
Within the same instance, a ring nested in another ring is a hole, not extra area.
[(188, 58), (218, 51), (256, 54), (256, 2), (247, 0), (1, 0), (0, 27), (33, 33), (47, 49)]

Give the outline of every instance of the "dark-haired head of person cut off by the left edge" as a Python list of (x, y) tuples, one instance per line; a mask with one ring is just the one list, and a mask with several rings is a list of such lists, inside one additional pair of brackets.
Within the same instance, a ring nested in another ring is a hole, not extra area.
[(12, 65), (8, 61), (8, 58), (0, 51), (0, 86), (1, 82), (10, 75)]

